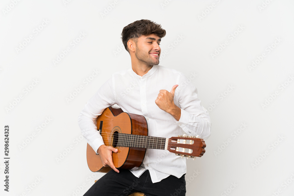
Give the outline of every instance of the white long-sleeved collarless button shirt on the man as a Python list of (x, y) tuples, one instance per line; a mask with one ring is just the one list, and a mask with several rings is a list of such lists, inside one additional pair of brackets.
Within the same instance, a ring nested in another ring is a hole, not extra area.
[[(179, 86), (175, 91), (174, 103), (181, 108), (179, 121), (155, 103), (160, 90), (170, 92), (176, 84)], [(149, 136), (170, 138), (188, 134), (207, 139), (211, 135), (208, 112), (197, 98), (197, 89), (183, 73), (153, 66), (144, 76), (139, 76), (130, 68), (113, 73), (86, 103), (78, 117), (81, 132), (95, 152), (104, 144), (95, 120), (105, 108), (114, 104), (124, 112), (143, 115), (147, 120)], [(168, 150), (147, 149), (141, 167), (131, 172), (139, 177), (146, 169), (153, 183), (169, 175), (180, 178), (187, 171), (186, 159)]]

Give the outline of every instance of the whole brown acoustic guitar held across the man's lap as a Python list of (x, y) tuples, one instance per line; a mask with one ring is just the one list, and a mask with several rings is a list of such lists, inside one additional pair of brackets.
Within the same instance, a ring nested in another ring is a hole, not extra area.
[[(194, 158), (205, 153), (203, 139), (194, 136), (161, 138), (148, 136), (147, 121), (144, 116), (123, 112), (121, 108), (106, 108), (96, 119), (97, 127), (105, 145), (117, 148), (112, 153), (116, 168), (133, 169), (140, 167), (146, 148), (168, 150), (176, 155)], [(103, 167), (100, 155), (87, 144), (87, 163), (92, 172), (108, 172), (111, 167)]]

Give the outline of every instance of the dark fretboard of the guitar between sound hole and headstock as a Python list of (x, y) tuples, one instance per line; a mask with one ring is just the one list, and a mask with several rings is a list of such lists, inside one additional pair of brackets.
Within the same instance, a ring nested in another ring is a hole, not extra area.
[(117, 146), (164, 150), (166, 138), (118, 133)]

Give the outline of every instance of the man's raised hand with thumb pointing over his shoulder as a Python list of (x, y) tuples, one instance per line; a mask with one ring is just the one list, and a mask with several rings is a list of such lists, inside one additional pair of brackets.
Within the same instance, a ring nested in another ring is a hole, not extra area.
[(155, 100), (156, 105), (161, 110), (171, 114), (177, 121), (179, 121), (181, 118), (181, 109), (175, 105), (173, 98), (178, 86), (179, 85), (173, 86), (173, 88), (171, 88), (171, 92), (168, 92), (167, 90), (160, 90)]

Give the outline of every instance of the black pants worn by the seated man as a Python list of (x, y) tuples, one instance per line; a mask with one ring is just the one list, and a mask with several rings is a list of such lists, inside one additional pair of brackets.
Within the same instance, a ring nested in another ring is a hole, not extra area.
[(152, 183), (149, 171), (140, 177), (129, 170), (111, 170), (101, 177), (84, 196), (127, 196), (133, 192), (143, 192), (147, 196), (185, 196), (185, 174), (181, 178), (170, 175), (160, 182)]

